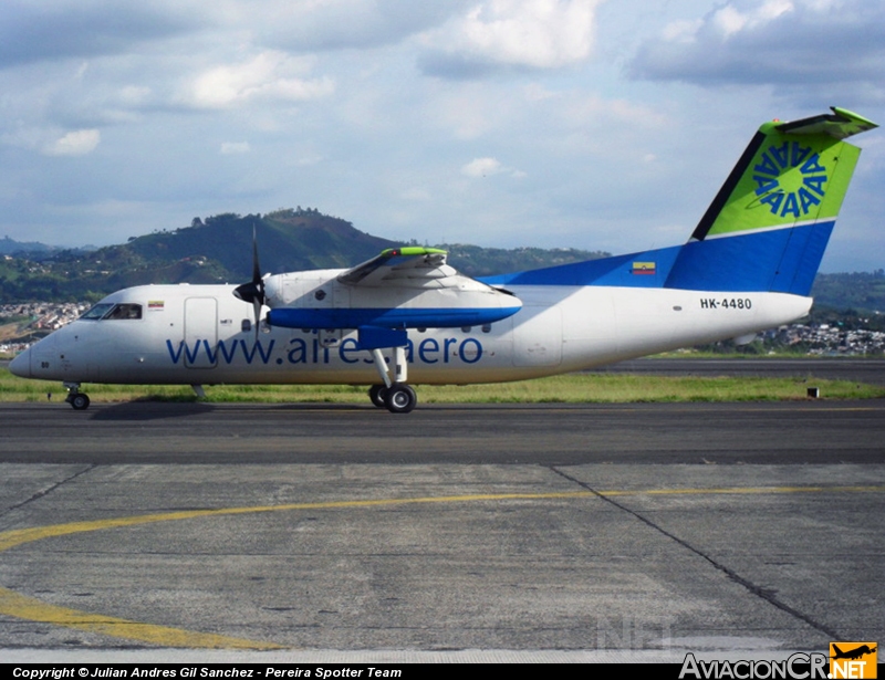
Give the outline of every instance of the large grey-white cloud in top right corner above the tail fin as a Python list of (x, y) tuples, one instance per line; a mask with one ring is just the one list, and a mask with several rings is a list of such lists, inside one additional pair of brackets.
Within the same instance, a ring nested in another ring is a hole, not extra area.
[(777, 85), (815, 102), (881, 102), (885, 3), (727, 0), (645, 40), (629, 71), (701, 86)]

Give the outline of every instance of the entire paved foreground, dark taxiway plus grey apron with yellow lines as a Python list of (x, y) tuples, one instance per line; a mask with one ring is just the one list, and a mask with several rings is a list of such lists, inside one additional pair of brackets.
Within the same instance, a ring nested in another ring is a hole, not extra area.
[(878, 401), (2, 405), (2, 657), (680, 661), (879, 640), (883, 442)]

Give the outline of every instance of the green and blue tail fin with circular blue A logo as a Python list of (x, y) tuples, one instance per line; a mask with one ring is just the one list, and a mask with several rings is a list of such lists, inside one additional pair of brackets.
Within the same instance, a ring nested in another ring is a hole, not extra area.
[(844, 108), (766, 123), (680, 250), (665, 287), (808, 295), (861, 150)]

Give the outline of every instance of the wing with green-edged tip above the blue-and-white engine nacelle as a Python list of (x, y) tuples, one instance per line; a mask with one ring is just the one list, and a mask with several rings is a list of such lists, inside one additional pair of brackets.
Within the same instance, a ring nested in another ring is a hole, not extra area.
[(438, 248), (409, 245), (388, 248), (376, 258), (357, 264), (337, 276), (345, 285), (402, 285), (407, 281), (420, 284), (438, 282), (457, 272), (446, 264), (446, 251)]

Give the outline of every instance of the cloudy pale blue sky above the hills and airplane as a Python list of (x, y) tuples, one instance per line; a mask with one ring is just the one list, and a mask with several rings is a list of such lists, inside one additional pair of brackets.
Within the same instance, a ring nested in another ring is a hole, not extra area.
[[(0, 237), (301, 206), (625, 253), (686, 241), (761, 123), (831, 105), (885, 124), (885, 2), (4, 0)], [(822, 271), (885, 268), (885, 130), (853, 142)]]

